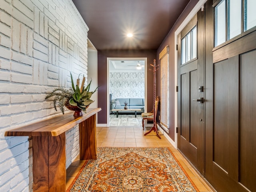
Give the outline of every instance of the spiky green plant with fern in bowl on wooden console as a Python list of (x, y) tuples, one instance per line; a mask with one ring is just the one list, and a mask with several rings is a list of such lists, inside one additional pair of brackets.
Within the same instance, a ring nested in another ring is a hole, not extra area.
[(90, 83), (85, 87), (84, 82), (85, 82), (85, 77), (83, 77), (81, 87), (79, 88), (79, 76), (78, 79), (76, 80), (76, 86), (74, 86), (74, 81), (72, 74), (70, 72), (71, 76), (71, 83), (72, 83), (72, 88), (66, 89), (63, 87), (58, 87), (55, 88), (51, 93), (49, 93), (45, 99), (49, 99), (54, 97), (53, 99), (53, 106), (54, 109), (57, 111), (57, 106), (60, 108), (60, 111), (62, 114), (64, 114), (64, 106), (68, 108), (69, 110), (73, 110), (74, 116), (82, 116), (82, 111), (86, 112), (86, 108), (93, 103), (94, 101), (91, 100), (92, 94), (96, 92), (98, 87), (93, 91), (90, 92)]

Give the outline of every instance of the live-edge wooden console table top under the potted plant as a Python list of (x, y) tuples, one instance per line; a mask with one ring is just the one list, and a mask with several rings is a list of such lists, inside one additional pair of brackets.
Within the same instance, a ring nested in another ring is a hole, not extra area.
[(5, 136), (58, 136), (99, 112), (101, 108), (88, 108), (83, 116), (74, 117), (74, 111), (47, 120), (28, 124), (5, 132)]

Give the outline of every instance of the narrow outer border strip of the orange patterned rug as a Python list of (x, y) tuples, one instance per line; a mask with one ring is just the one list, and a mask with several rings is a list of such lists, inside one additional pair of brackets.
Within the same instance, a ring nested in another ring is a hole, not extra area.
[[(97, 148), (145, 148), (145, 147), (97, 147)], [(172, 154), (174, 160), (177, 162), (178, 166), (180, 166), (180, 169), (182, 170), (182, 172), (186, 175), (186, 177), (188, 178), (188, 180), (190, 181), (191, 185), (194, 187), (194, 189), (197, 192), (200, 192), (198, 190), (198, 188), (196, 187), (196, 185), (194, 184), (194, 182), (192, 181), (192, 179), (190, 178), (190, 176), (187, 174), (186, 170), (184, 170), (184, 168), (182, 167), (182, 165), (180, 164), (180, 162), (177, 160), (177, 158), (174, 156), (173, 152), (171, 151), (171, 149), (169, 147), (147, 147), (147, 148), (167, 148), (169, 150), (169, 152)], [(76, 175), (76, 177), (74, 178), (74, 180), (72, 181), (72, 183), (70, 184), (70, 186), (68, 187), (68, 189), (66, 190), (66, 192), (70, 192), (72, 186), (74, 185), (74, 183), (76, 182), (76, 180), (79, 178), (81, 172), (84, 170), (85, 166), (88, 164), (89, 160), (86, 160), (86, 162), (84, 162), (84, 165), (82, 166), (82, 168), (80, 169), (80, 171), (78, 172), (78, 174)]]

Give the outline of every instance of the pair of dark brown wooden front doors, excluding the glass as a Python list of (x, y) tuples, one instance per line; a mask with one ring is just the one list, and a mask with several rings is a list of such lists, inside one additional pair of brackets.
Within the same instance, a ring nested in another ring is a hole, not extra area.
[[(218, 2), (178, 35), (178, 149), (216, 191), (256, 192), (256, 26), (214, 47)], [(195, 25), (197, 57), (184, 63), (182, 39)]]

